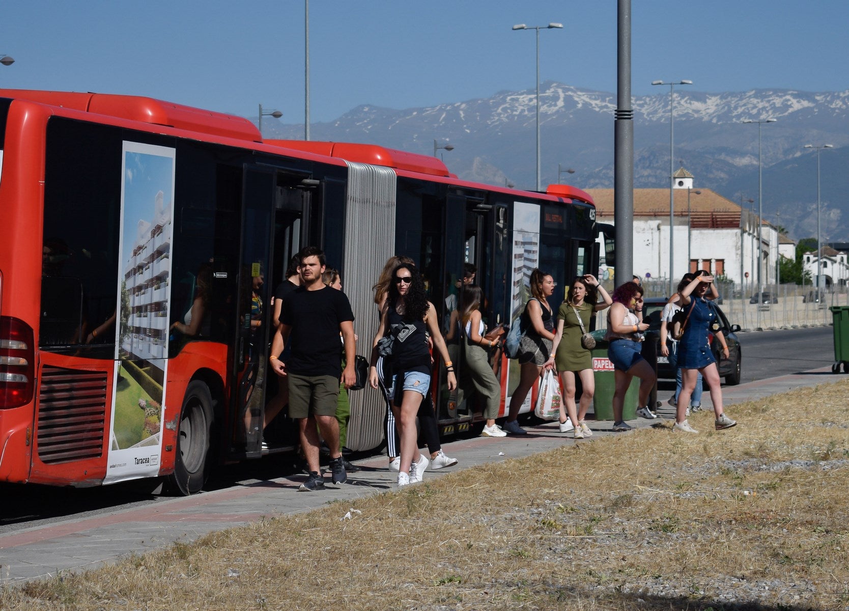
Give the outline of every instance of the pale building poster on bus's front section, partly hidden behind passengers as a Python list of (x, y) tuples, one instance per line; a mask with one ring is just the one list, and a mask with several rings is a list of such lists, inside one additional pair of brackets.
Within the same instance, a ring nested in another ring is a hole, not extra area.
[[(519, 324), (525, 304), (531, 297), (531, 272), (539, 264), (539, 223), (540, 209), (537, 204), (514, 202), (510, 325)], [(509, 405), (510, 395), (519, 385), (519, 369), (519, 361), (510, 359), (507, 373), (507, 397), (504, 399), (504, 405)], [(528, 393), (522, 404), (522, 412), (531, 410), (531, 394)]]

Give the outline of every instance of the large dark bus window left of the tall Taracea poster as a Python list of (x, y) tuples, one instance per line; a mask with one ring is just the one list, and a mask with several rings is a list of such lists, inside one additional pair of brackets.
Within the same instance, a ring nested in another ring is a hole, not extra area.
[[(121, 139), (115, 127), (48, 122), (42, 236), (42, 349), (112, 359), (121, 216)], [(79, 142), (87, 146), (80, 149)]]

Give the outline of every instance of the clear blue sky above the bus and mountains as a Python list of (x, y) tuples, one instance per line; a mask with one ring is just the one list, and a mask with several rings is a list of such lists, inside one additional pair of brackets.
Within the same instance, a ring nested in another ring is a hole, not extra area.
[[(846, 0), (633, 0), (633, 93), (849, 89)], [(0, 88), (149, 95), (303, 122), (304, 1), (0, 0)], [(540, 76), (616, 91), (616, 0), (310, 3), (312, 122), (487, 98)], [(267, 118), (266, 121), (274, 121)]]

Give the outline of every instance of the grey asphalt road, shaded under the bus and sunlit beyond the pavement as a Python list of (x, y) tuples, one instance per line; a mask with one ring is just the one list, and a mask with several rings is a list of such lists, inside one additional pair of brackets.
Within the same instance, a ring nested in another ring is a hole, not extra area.
[[(832, 327), (740, 333), (743, 350), (741, 382), (784, 376), (797, 371), (828, 367), (834, 363)], [(661, 382), (660, 388), (674, 388)], [(247, 485), (263, 478), (293, 472), (291, 456), (265, 456), (216, 471), (207, 489)], [(0, 533), (14, 532), (37, 524), (68, 518), (90, 517), (132, 506), (148, 505), (162, 497), (151, 491), (148, 481), (127, 482), (89, 489), (58, 489), (47, 486), (0, 484)]]

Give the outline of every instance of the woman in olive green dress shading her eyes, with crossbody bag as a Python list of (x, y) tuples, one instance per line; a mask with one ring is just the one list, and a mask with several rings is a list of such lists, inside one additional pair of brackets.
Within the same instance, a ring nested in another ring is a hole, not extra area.
[[(599, 296), (602, 301), (599, 302)], [(571, 427), (566, 421), (568, 413), (571, 425), (575, 427), (575, 438), (582, 439), (593, 434), (584, 418), (587, 416), (589, 404), (595, 393), (595, 378), (593, 377), (593, 355), (581, 345), (581, 336), (589, 332), (589, 322), (593, 314), (610, 307), (613, 303), (610, 295), (599, 284), (592, 274), (578, 276), (572, 281), (566, 301), (560, 305), (557, 312), (557, 331), (551, 348), (551, 358), (546, 365), (554, 365), (559, 372), (563, 384), (564, 396), (560, 402), (560, 433), (567, 432)], [(578, 319), (580, 316), (580, 320)], [(581, 377), (583, 392), (581, 406), (575, 406), (575, 376)], [(565, 407), (565, 410), (564, 410)]]

